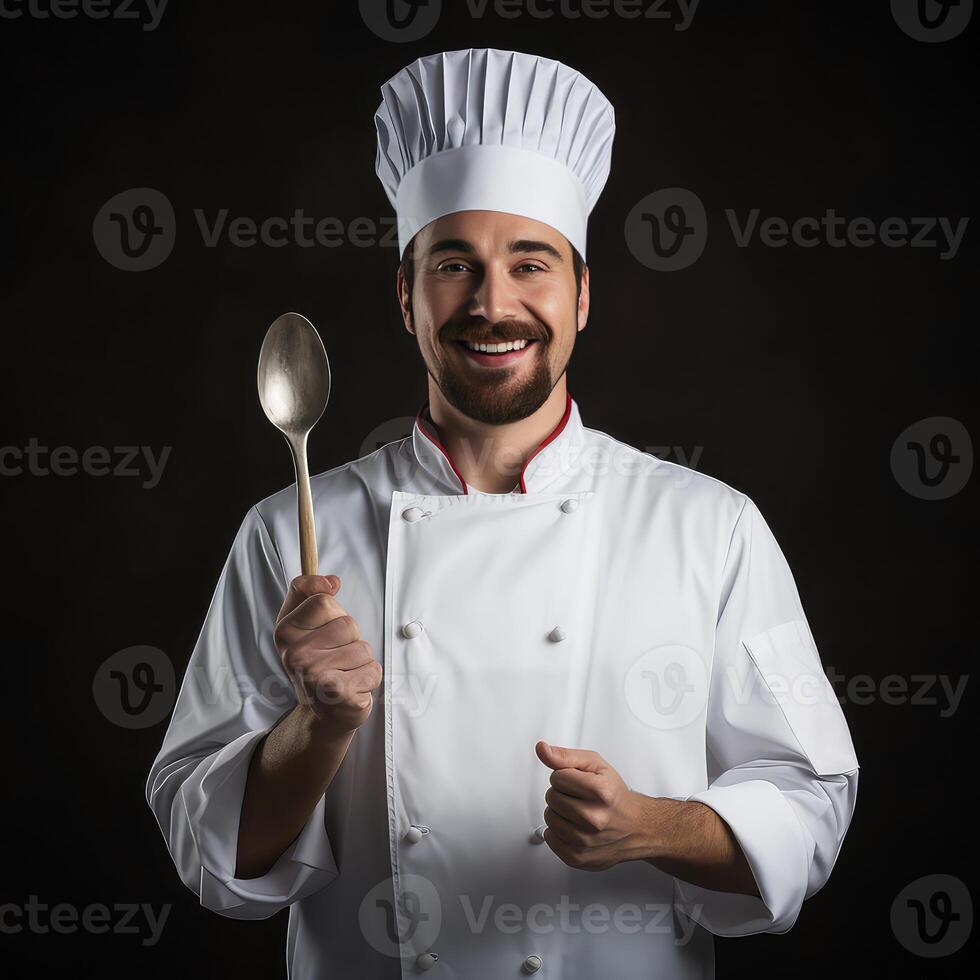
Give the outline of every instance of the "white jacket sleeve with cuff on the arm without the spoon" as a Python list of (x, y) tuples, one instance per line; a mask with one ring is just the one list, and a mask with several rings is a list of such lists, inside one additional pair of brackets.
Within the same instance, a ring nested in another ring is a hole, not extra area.
[(707, 716), (709, 787), (761, 899), (677, 881), (681, 909), (723, 936), (786, 932), (826, 883), (854, 812), (858, 762), (795, 582), (751, 500), (722, 576)]

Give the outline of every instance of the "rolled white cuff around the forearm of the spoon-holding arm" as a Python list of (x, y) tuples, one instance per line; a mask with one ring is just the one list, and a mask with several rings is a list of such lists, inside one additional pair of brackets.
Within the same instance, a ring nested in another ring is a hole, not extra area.
[(267, 918), (333, 881), (338, 874), (321, 797), (306, 825), (259, 878), (236, 878), (238, 829), (248, 768), (267, 731), (246, 732), (214, 757), (192, 797), (183, 795), (201, 861), (201, 904), (232, 918)]

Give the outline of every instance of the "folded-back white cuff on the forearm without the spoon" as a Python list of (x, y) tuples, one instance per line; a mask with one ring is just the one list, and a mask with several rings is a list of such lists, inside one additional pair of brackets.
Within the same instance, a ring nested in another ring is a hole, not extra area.
[(761, 898), (712, 891), (675, 878), (680, 911), (716, 936), (789, 930), (806, 897), (809, 861), (803, 828), (779, 789), (754, 779), (715, 784), (687, 799), (711, 807), (731, 828)]

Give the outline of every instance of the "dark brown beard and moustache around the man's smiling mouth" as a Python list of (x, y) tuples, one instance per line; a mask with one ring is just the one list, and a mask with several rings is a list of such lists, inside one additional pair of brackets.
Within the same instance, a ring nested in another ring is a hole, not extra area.
[[(458, 334), (460, 331), (453, 331)], [(519, 336), (539, 338), (536, 346), (544, 347), (548, 343), (546, 332), (541, 327), (522, 332), (519, 324), (509, 321), (499, 329), (488, 329), (488, 336), (504, 339)], [(452, 334), (450, 334), (452, 335)], [(455, 340), (443, 340), (443, 343), (456, 343)], [(557, 377), (551, 377), (551, 369), (544, 350), (530, 351), (534, 360), (531, 374), (515, 389), (513, 384), (499, 384), (488, 380), (485, 384), (474, 383), (472, 375), (463, 377), (453, 370), (451, 364), (444, 363), (438, 378), (435, 378), (443, 397), (457, 411), (476, 422), (488, 425), (506, 425), (509, 422), (519, 422), (533, 415), (547, 400), (554, 390), (558, 379), (564, 374), (565, 366), (558, 372)]]

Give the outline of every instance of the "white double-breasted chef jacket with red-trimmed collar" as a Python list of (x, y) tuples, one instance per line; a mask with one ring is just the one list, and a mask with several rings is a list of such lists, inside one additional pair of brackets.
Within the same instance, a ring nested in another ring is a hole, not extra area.
[[(290, 977), (694, 978), (712, 934), (785, 932), (827, 881), (858, 763), (786, 561), (743, 493), (563, 418), (511, 493), (466, 485), (427, 405), (411, 436), (313, 480), (320, 570), (384, 665), (308, 823), (235, 877), (258, 741), (295, 704), (273, 628), (296, 492), (245, 517), (147, 783), (201, 904), (289, 906)], [(534, 744), (731, 827), (761, 898), (541, 841)]]

